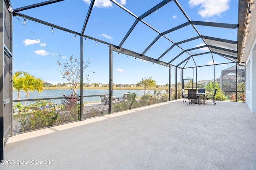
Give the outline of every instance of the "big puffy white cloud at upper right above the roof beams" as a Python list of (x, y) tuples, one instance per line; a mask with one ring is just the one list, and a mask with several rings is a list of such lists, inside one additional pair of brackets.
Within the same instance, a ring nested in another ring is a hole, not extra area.
[(230, 0), (190, 0), (190, 7), (200, 6), (198, 14), (203, 18), (220, 16), (230, 8)]

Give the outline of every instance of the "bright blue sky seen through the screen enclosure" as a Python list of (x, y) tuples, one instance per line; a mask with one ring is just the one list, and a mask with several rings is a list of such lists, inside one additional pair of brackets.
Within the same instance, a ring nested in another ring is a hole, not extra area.
[[(44, 2), (44, 0), (33, 0), (33, 4)], [(144, 14), (150, 8), (160, 3), (161, 0), (117, 0), (125, 8), (130, 10), (136, 16)], [(146, 2), (146, 3), (145, 3)], [(179, 0), (178, 1), (190, 20), (220, 22), (237, 24), (238, 2), (237, 0)], [(31, 5), (31, 0), (11, 0), (13, 8)], [(84, 18), (88, 11), (90, 0), (65, 0), (48, 6), (42, 6), (36, 9), (22, 11), (22, 14), (38, 18), (40, 20), (53, 23), (55, 25), (81, 32), (84, 24)], [(135, 18), (117, 7), (109, 0), (96, 0), (92, 14), (85, 30), (85, 35), (97, 38), (99, 40), (119, 45)], [(143, 19), (144, 22), (154, 27), (159, 32), (165, 32), (175, 26), (187, 22), (186, 18), (175, 5), (174, 1), (169, 2), (164, 7), (153, 12)], [(22, 70), (42, 78), (48, 83), (67, 82), (56, 70), (57, 60), (60, 55), (63, 62), (71, 55), (80, 57), (80, 37), (74, 34), (63, 32), (51, 27), (26, 20), (23, 18), (13, 18), (13, 69)], [(237, 39), (236, 29), (223, 29), (211, 27), (196, 26), (197, 30), (204, 36), (212, 36), (227, 40)], [(130, 49), (137, 53), (142, 53), (146, 47), (158, 36), (158, 34), (148, 28), (142, 22), (139, 22), (122, 47)], [(179, 42), (192, 38), (196, 35), (192, 32), (192, 27), (184, 27), (176, 32), (166, 34), (166, 37), (173, 42)], [(108, 83), (108, 45), (93, 40), (83, 40), (84, 61), (88, 59), (91, 63), (86, 69), (86, 74), (90, 73), (85, 83)], [(184, 49), (189, 49), (202, 45), (202, 40), (180, 44)], [(166, 49), (172, 45), (166, 38), (161, 37), (146, 53), (146, 56), (157, 58)], [(205, 49), (200, 49), (204, 51)], [(162, 61), (168, 62), (170, 58), (175, 57), (181, 52), (181, 49), (174, 47)], [(195, 51), (197, 52), (197, 51)], [(173, 62), (174, 65), (187, 58), (184, 54)], [(194, 57), (196, 63), (200, 65), (213, 64), (211, 55)], [(214, 55), (216, 64), (230, 62), (227, 59)], [(193, 66), (192, 60), (188, 61), (187, 66)], [(231, 67), (234, 64), (218, 65), (216, 77), (220, 76), (220, 71)], [(151, 67), (149, 67), (151, 66)], [(182, 65), (181, 65), (182, 66)], [(211, 69), (210, 69), (211, 68)], [(211, 67), (200, 67), (198, 69), (198, 81), (209, 78), (212, 75)], [(94, 72), (94, 73), (92, 73)], [(184, 77), (192, 78), (191, 71), (184, 71)], [(148, 63), (141, 59), (134, 59), (133, 56), (113, 52), (113, 83), (137, 83), (143, 77), (152, 76), (157, 84), (168, 83), (168, 68)]]

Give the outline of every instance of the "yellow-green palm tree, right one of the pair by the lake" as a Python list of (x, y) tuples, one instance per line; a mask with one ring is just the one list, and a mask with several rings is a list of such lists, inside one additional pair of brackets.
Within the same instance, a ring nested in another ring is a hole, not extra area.
[[(24, 74), (24, 84), (23, 89), (26, 95), (26, 99), (28, 99), (29, 91), (38, 90), (38, 93), (41, 93), (43, 91), (44, 81), (40, 78), (36, 78), (34, 75), (30, 75), (27, 72)], [(24, 103), (24, 107), (26, 106), (26, 101)]]

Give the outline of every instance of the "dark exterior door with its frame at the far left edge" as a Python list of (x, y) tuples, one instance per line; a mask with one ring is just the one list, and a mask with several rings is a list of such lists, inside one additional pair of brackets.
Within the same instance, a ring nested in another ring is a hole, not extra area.
[(0, 3), (0, 160), (3, 160), (4, 146), (12, 135), (12, 12), (8, 10), (9, 1)]

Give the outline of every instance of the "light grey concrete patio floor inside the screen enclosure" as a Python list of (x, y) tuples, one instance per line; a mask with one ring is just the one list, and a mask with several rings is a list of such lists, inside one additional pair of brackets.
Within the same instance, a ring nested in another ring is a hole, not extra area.
[(256, 113), (245, 103), (182, 101), (18, 134), (4, 149), (13, 164), (0, 169), (256, 169)]

